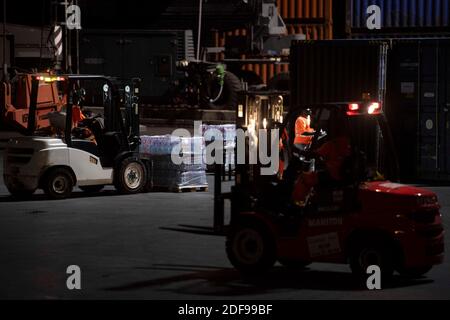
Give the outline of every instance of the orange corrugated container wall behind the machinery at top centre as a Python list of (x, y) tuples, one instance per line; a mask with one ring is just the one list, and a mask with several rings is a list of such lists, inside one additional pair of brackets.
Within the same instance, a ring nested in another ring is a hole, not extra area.
[[(304, 34), (306, 40), (333, 38), (332, 4), (332, 0), (277, 0), (278, 12), (285, 21), (288, 34)], [(216, 43), (225, 46), (227, 36), (246, 34), (246, 29), (217, 34)], [(266, 84), (275, 75), (289, 72), (287, 64), (252, 63), (244, 65), (243, 69), (255, 72)]]

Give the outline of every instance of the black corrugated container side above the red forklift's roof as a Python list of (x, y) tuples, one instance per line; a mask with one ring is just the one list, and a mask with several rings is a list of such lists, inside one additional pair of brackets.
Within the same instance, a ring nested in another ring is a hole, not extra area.
[(291, 108), (317, 103), (383, 101), (388, 44), (381, 41), (298, 41), (291, 47)]

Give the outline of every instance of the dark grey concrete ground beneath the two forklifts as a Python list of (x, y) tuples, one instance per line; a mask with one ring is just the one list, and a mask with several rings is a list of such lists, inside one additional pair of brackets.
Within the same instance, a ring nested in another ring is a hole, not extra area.
[[(448, 255), (426, 277), (398, 277), (381, 291), (358, 289), (349, 268), (333, 264), (302, 272), (277, 266), (249, 282), (231, 267), (222, 237), (165, 229), (210, 226), (211, 187), (131, 196), (112, 188), (94, 196), (76, 190), (62, 201), (38, 192), (30, 201), (14, 201), (0, 180), (0, 299), (450, 298)], [(450, 188), (432, 189), (449, 230)], [(79, 291), (66, 287), (69, 265), (81, 268)]]

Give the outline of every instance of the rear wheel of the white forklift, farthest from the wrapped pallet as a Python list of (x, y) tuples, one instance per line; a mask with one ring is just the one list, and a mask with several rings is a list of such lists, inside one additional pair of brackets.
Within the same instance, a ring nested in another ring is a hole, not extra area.
[(50, 170), (43, 179), (42, 188), (50, 199), (65, 199), (72, 193), (74, 181), (69, 170), (56, 168)]

